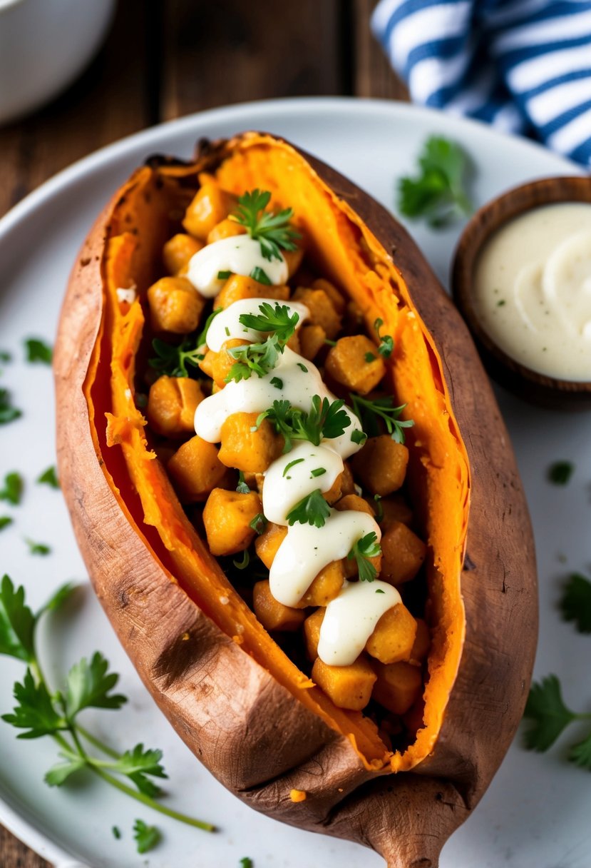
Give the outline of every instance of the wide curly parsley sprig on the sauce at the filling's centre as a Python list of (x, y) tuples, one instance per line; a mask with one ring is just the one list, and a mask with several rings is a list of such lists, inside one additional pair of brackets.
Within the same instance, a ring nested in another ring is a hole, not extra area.
[(319, 446), (324, 437), (341, 437), (351, 424), (351, 418), (343, 410), (345, 402), (341, 399), (329, 401), (315, 395), (308, 412), (294, 407), (289, 401), (273, 401), (273, 406), (257, 417), (257, 428), (263, 419), (275, 425), (278, 434), (285, 439), (283, 452), (289, 452), (293, 440), (308, 440)]

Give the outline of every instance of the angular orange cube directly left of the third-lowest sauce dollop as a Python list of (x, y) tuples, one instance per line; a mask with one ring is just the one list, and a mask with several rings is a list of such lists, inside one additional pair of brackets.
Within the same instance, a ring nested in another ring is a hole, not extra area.
[(255, 491), (214, 489), (203, 510), (207, 544), (212, 555), (235, 555), (248, 549), (257, 531), (250, 522), (263, 512), (261, 498)]

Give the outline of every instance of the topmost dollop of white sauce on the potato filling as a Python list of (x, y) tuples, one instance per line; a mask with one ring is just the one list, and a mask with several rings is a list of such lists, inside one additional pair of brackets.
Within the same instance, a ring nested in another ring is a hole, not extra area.
[(206, 299), (218, 295), (225, 280), (218, 279), (219, 272), (244, 274), (248, 277), (255, 268), (262, 268), (274, 286), (288, 279), (288, 266), (283, 258), (266, 260), (261, 253), (261, 245), (250, 235), (232, 235), (213, 241), (195, 253), (189, 260), (186, 277), (198, 293)]

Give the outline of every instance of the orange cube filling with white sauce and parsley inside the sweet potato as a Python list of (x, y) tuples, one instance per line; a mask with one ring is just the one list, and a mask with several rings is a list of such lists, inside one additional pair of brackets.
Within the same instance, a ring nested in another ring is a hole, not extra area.
[(393, 339), (380, 319), (362, 333), (270, 194), (204, 183), (183, 227), (147, 292), (148, 442), (263, 627), (402, 746), (422, 724), (430, 630), (412, 420), (380, 391)]

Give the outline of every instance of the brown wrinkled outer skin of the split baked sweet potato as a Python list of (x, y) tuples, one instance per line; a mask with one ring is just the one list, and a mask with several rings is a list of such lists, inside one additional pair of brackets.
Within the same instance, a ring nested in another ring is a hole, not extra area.
[[(202, 142), (198, 170), (215, 170), (229, 148), (232, 141)], [(412, 773), (380, 777), (368, 771), (346, 737), (302, 707), (179, 588), (165, 559), (154, 554), (153, 529), (133, 514), (133, 499), (128, 506), (108, 484), (104, 444), (89, 434), (84, 386), (101, 337), (109, 222), (125, 187), (82, 247), (62, 309), (54, 363), (62, 489), (94, 588), (127, 654), (172, 726), (224, 786), (283, 822), (369, 845), (391, 868), (435, 866), (445, 840), (490, 783), (523, 713), (537, 627), (529, 516), (488, 380), (430, 267), (405, 230), (367, 194), (315, 158), (303, 157), (354, 208), (405, 275), (443, 360), (471, 463), (462, 572), (469, 653), (459, 663), (432, 754)], [(174, 161), (150, 161), (156, 173), (160, 165)], [(490, 630), (491, 617), (502, 630)], [(216, 718), (223, 740), (205, 726)], [(288, 752), (281, 730), (290, 733)], [(294, 788), (308, 798), (293, 803)]]

